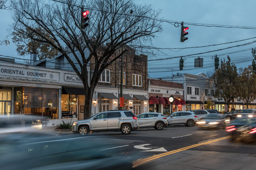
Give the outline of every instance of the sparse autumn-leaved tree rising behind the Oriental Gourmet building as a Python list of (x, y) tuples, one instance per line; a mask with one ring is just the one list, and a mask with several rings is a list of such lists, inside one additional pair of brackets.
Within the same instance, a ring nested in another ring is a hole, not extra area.
[[(40, 34), (43, 36), (47, 37), (49, 41), (57, 45), (55, 41), (51, 39), (49, 33), (39, 28), (35, 28), (35, 30), (40, 32)], [(30, 53), (36, 53), (39, 60), (50, 59), (59, 54), (59, 51), (55, 49), (50, 43), (36, 41), (34, 38), (44, 41), (42, 37), (38, 36), (29, 28), (26, 28), (26, 30), (21, 30), (21, 32), (13, 32), (12, 42), (17, 46), (17, 53), (21, 56), (29, 55)]]

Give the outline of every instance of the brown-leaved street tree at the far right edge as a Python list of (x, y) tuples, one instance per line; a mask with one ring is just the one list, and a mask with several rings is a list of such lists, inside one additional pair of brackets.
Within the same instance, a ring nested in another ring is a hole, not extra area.
[(238, 77), (239, 81), (239, 97), (244, 101), (247, 106), (255, 99), (256, 96), (256, 74), (253, 73), (251, 65), (245, 68), (242, 74)]

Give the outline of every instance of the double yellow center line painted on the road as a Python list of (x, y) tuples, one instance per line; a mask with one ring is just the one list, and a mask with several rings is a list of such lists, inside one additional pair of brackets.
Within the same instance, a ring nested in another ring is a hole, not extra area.
[(193, 147), (197, 147), (197, 146), (200, 146), (200, 145), (205, 145), (205, 144), (217, 142), (217, 141), (220, 141), (220, 140), (223, 140), (223, 139), (227, 139), (227, 138), (230, 138), (230, 136), (219, 138), (219, 139), (215, 139), (215, 140), (211, 140), (211, 141), (207, 141), (207, 142), (203, 142), (203, 143), (198, 143), (198, 144), (187, 146), (187, 147), (183, 147), (183, 148), (180, 148), (180, 149), (177, 149), (177, 150), (172, 150), (172, 151), (169, 151), (169, 152), (165, 152), (163, 154), (158, 154), (158, 155), (155, 155), (155, 156), (152, 156), (152, 157), (141, 159), (141, 160), (133, 162), (133, 166), (132, 167), (134, 168), (134, 167), (137, 167), (137, 166), (139, 166), (141, 164), (144, 164), (144, 163), (146, 163), (148, 161), (151, 161), (151, 160), (154, 160), (154, 159), (157, 159), (157, 158), (161, 158), (161, 157), (164, 157), (164, 156), (167, 156), (167, 155), (171, 155), (171, 154), (183, 151), (183, 150), (187, 150), (187, 149), (190, 149), (190, 148), (193, 148)]

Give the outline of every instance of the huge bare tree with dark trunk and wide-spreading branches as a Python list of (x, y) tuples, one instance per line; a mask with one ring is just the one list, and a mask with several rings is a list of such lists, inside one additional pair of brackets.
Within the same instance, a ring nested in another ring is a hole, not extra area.
[[(83, 6), (90, 11), (86, 29), (80, 29)], [(65, 56), (81, 78), (87, 99), (84, 118), (90, 117), (93, 92), (102, 71), (126, 53), (128, 48), (124, 48), (122, 53), (116, 51), (126, 45), (130, 48), (136, 45), (141, 51), (146, 51), (143, 47), (162, 31), (162, 25), (157, 21), (160, 11), (155, 11), (151, 5), (137, 5), (133, 0), (11, 0), (11, 9), (14, 11), (15, 31), (32, 40), (52, 45)], [(49, 36), (38, 32), (38, 27)], [(41, 38), (26, 34), (26, 29)], [(79, 40), (79, 36), (82, 36), (82, 40)], [(69, 58), (65, 46), (74, 55), (75, 61)], [(90, 51), (89, 56), (85, 56), (86, 49)], [(93, 64), (93, 73), (88, 77), (90, 61), (94, 61), (90, 63)]]

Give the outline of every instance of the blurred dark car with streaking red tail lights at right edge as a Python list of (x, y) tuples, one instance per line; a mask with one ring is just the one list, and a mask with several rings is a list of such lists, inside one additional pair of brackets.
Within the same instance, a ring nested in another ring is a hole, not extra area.
[(231, 140), (252, 141), (256, 139), (256, 118), (241, 117), (235, 119), (228, 127), (231, 132)]

